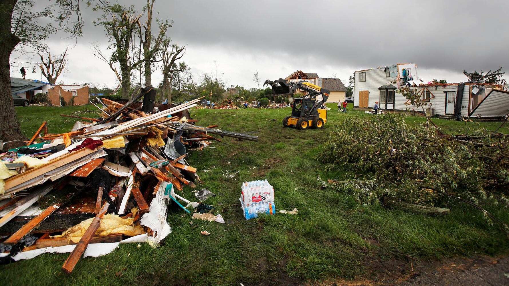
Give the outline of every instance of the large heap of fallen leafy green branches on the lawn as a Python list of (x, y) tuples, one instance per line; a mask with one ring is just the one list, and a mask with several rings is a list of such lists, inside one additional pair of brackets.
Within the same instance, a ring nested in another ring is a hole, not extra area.
[(444, 136), (429, 123), (408, 126), (404, 118), (400, 113), (349, 118), (330, 131), (319, 158), (372, 178), (371, 186), (335, 185), (361, 203), (385, 196), (429, 207), (468, 202), (509, 234), (507, 223), (494, 214), (509, 206), (509, 137), (481, 128)]

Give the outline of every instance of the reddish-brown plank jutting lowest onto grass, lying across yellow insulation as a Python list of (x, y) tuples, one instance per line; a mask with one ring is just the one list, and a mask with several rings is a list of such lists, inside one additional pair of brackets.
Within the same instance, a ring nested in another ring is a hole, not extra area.
[(96, 215), (94, 220), (92, 220), (92, 223), (87, 228), (87, 231), (83, 234), (79, 242), (76, 244), (76, 247), (71, 252), (71, 255), (67, 258), (67, 260), (64, 262), (64, 265), (62, 266), (62, 271), (67, 274), (71, 274), (72, 270), (78, 263), (78, 260), (81, 258), (81, 255), (83, 255), (83, 252), (87, 249), (87, 246), (89, 245), (90, 241), (92, 241), (92, 238), (94, 237), (95, 232), (97, 231), (97, 228), (99, 228), (99, 225), (101, 225), (101, 220), (104, 216), (104, 214), (108, 211), (109, 203), (106, 202), (102, 206), (99, 213)]

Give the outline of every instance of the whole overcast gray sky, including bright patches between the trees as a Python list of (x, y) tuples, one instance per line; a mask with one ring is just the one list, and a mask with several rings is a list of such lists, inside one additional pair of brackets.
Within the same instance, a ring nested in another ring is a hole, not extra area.
[[(40, 1), (38, 5), (46, 3)], [(138, 11), (144, 2), (119, 1)], [(247, 88), (256, 86), (256, 71), (261, 82), (302, 70), (321, 77), (335, 75), (347, 83), (356, 70), (397, 63), (417, 64), (423, 80), (448, 82), (465, 81), (463, 69), (504, 67), (506, 71), (508, 8), (509, 1), (490, 0), (156, 0), (154, 5), (161, 18), (173, 19), (168, 34), (187, 46), (182, 60), (191, 67), (195, 80), (217, 66), (227, 86)], [(59, 81), (115, 88), (115, 74), (91, 49), (91, 43), (98, 42), (110, 53), (103, 28), (93, 24), (101, 14), (84, 7), (82, 14), (83, 37), (75, 41), (52, 35), (47, 40), (52, 53), (61, 53), (70, 45), (67, 70)], [(19, 76), (19, 65), (11, 67), (12, 76)], [(160, 73), (154, 71), (154, 85), (162, 79)], [(27, 78), (43, 79), (39, 72), (28, 69)]]

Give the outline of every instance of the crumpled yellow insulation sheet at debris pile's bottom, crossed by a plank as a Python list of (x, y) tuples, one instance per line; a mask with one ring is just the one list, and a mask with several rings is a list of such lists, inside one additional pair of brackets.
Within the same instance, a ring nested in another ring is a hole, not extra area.
[[(90, 224), (94, 220), (93, 217), (83, 220), (82, 222), (74, 225), (69, 228), (67, 231), (63, 232), (61, 235), (56, 235), (53, 237), (65, 237), (70, 239), (72, 242), (77, 243), (83, 234), (87, 231)], [(107, 236), (107, 235), (115, 235), (115, 234), (123, 234), (127, 236), (135, 236), (144, 234), (143, 226), (133, 223), (133, 218), (123, 219), (118, 215), (106, 214), (101, 220), (101, 224), (97, 229), (94, 236)]]

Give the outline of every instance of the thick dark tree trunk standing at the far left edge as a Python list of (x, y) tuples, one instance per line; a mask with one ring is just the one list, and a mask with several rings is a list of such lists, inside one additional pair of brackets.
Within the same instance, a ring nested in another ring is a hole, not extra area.
[(11, 32), (12, 10), (16, 0), (2, 1), (0, 9), (0, 140), (26, 140), (21, 133), (11, 95), (9, 59), (19, 38)]

